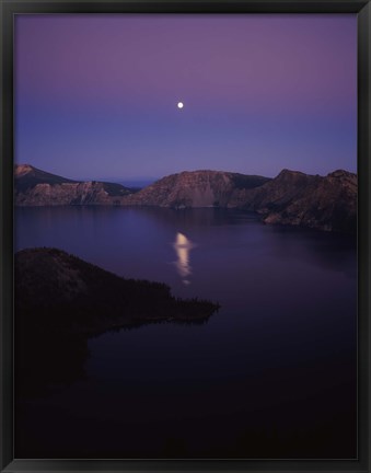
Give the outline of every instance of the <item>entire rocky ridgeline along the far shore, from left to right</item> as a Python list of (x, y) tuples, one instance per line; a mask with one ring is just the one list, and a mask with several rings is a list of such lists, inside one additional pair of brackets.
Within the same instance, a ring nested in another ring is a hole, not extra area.
[(15, 165), (16, 206), (118, 205), (239, 208), (265, 223), (356, 232), (357, 175), (283, 170), (275, 178), (221, 171), (181, 172), (138, 191), (120, 184), (77, 182), (28, 164)]

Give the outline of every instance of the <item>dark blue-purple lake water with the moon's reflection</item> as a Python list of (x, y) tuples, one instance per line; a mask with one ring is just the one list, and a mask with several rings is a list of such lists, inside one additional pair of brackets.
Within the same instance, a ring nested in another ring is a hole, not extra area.
[(234, 210), (55, 207), (16, 209), (15, 246), (221, 304), (202, 325), (91, 338), (84, 379), (22, 401), (16, 457), (357, 455), (352, 238)]

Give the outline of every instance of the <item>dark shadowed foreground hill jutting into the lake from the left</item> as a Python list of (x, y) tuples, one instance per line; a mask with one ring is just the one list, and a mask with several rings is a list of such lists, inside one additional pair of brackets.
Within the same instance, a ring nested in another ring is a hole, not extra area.
[(202, 323), (219, 305), (124, 279), (56, 249), (15, 254), (15, 362), (22, 393), (83, 376), (88, 338), (154, 322)]

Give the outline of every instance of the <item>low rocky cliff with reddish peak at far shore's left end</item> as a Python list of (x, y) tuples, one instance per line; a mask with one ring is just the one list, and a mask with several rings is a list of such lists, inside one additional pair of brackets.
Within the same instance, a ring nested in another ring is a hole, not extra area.
[(132, 191), (120, 184), (77, 182), (20, 164), (14, 171), (15, 205), (120, 205)]

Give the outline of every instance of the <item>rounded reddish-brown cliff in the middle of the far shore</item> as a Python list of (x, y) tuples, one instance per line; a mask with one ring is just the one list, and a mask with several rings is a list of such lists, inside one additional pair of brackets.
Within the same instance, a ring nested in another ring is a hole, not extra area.
[(227, 207), (240, 189), (252, 189), (270, 181), (221, 171), (172, 174), (129, 196), (125, 204), (161, 207)]

